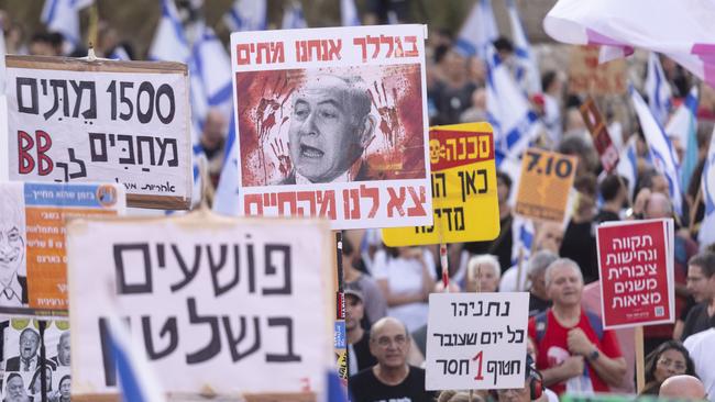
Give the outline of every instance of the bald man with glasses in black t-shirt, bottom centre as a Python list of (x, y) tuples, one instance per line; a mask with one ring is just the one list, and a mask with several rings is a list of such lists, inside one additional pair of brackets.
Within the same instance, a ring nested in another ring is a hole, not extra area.
[(407, 365), (410, 340), (405, 324), (393, 317), (377, 321), (371, 331), (370, 350), (377, 364), (350, 377), (353, 402), (432, 402), (425, 390), (425, 370)]

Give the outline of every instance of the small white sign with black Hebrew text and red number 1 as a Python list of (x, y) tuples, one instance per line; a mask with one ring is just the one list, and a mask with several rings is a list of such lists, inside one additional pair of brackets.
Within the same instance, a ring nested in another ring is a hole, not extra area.
[(432, 293), (427, 390), (524, 388), (529, 293)]

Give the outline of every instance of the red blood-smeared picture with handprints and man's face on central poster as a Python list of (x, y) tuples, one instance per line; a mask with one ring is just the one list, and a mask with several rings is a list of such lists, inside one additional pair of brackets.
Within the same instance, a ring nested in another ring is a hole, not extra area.
[(237, 74), (243, 186), (425, 175), (419, 65)]

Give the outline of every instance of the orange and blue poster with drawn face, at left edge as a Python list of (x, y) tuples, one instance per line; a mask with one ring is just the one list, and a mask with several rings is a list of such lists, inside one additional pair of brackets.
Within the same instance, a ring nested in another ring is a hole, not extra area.
[(0, 183), (0, 313), (66, 317), (66, 220), (124, 206), (120, 185)]

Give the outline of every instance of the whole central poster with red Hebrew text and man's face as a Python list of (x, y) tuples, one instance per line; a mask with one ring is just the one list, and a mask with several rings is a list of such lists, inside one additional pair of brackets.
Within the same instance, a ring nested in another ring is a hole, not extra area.
[(430, 225), (425, 30), (232, 33), (240, 213)]

